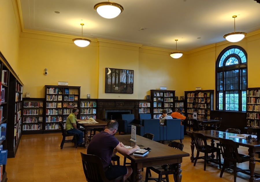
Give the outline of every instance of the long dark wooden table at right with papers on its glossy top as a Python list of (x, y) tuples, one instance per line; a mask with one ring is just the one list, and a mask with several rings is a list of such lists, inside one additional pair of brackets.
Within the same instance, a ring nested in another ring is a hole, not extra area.
[[(248, 152), (250, 155), (250, 161), (249, 161), (249, 169), (250, 169), (250, 182), (260, 181), (260, 174), (255, 173), (255, 152), (260, 151), (260, 142), (257, 141), (248, 141), (245, 138), (231, 138), (229, 136), (234, 136), (237, 134), (234, 133), (227, 133), (223, 131), (216, 131), (216, 130), (201, 130), (201, 131), (194, 131), (196, 133), (203, 133), (206, 138), (211, 139), (211, 146), (214, 146), (214, 141), (219, 140), (219, 138), (229, 139), (236, 142), (236, 144), (248, 147)], [(187, 133), (190, 134), (192, 142), (191, 142), (191, 161), (194, 162), (194, 140), (192, 137), (192, 131), (187, 131)], [(247, 174), (246, 172), (243, 172)]]

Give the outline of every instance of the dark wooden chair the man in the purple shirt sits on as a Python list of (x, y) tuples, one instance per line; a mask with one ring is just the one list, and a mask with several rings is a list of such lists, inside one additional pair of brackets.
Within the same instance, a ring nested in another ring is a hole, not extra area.
[(81, 154), (82, 159), (82, 166), (84, 170), (84, 174), (86, 176), (86, 180), (88, 182), (116, 182), (116, 181), (124, 181), (124, 176), (120, 176), (113, 180), (108, 180), (105, 177), (105, 171), (103, 168), (103, 164), (101, 159), (96, 155), (89, 155), (89, 154)]

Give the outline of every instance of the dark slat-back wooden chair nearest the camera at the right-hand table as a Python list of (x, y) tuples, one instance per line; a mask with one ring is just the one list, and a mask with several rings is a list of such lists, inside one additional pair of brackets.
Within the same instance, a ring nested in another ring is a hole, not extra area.
[(237, 144), (233, 140), (219, 138), (219, 141), (222, 157), (224, 159), (224, 164), (220, 172), (220, 177), (222, 178), (222, 175), (226, 168), (231, 168), (234, 172), (234, 182), (236, 182), (237, 172), (250, 171), (249, 169), (237, 169), (237, 163), (249, 161), (250, 156), (239, 154), (237, 151)]

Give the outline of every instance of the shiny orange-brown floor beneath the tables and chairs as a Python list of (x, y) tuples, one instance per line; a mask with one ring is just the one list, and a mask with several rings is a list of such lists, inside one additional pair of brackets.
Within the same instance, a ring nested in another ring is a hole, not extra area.
[[(86, 148), (74, 148), (73, 143), (65, 143), (63, 149), (60, 149), (61, 140), (61, 133), (22, 135), (15, 158), (7, 159), (8, 182), (86, 181), (80, 157), (80, 152), (86, 153)], [(191, 154), (190, 137), (185, 136), (183, 143), (183, 151)], [(247, 150), (248, 148), (239, 146), (240, 153), (248, 154)], [(120, 164), (123, 164), (122, 155), (118, 155), (120, 156)], [(247, 168), (248, 163), (238, 164), (238, 166)], [(202, 159), (198, 160), (196, 166), (193, 166), (190, 157), (184, 157), (181, 169), (183, 182), (233, 181), (231, 172), (224, 172), (223, 177), (220, 178), (220, 169), (216, 164), (208, 164), (206, 171), (204, 171)], [(258, 162), (256, 162), (255, 171), (260, 173), (260, 163)], [(144, 180), (145, 169), (142, 175), (142, 180)], [(156, 177), (157, 175), (152, 173), (152, 176)], [(248, 179), (248, 175), (238, 173), (237, 182), (249, 181)], [(174, 181), (172, 176), (170, 181)]]

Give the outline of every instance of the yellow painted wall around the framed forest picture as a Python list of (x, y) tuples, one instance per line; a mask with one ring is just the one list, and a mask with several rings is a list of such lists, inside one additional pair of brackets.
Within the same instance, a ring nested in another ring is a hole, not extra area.
[[(3, 8), (4, 7), (4, 8)], [(44, 97), (44, 85), (67, 81), (81, 86), (81, 98), (90, 94), (99, 99), (145, 99), (151, 89), (160, 86), (184, 91), (215, 89), (215, 63), (229, 45), (239, 45), (248, 53), (248, 87), (259, 85), (260, 31), (240, 42), (220, 42), (171, 58), (172, 50), (143, 47), (140, 44), (97, 39), (85, 48), (77, 47), (72, 36), (46, 32), (20, 32), (17, 15), (10, 1), (0, 1), (0, 51), (24, 83), (24, 96)], [(11, 40), (11, 41), (9, 41)], [(48, 75), (44, 75), (47, 68)], [(134, 93), (105, 93), (105, 68), (134, 70)]]

